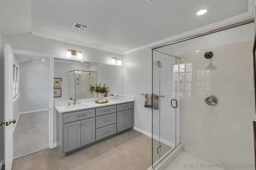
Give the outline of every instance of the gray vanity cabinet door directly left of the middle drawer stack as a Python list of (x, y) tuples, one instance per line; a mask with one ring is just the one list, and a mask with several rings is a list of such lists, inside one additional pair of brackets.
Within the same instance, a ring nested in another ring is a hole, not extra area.
[(81, 146), (95, 141), (95, 118), (81, 121)]

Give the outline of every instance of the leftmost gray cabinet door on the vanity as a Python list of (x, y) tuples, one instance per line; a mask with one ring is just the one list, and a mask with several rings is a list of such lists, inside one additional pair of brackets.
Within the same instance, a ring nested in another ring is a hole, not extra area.
[(64, 152), (81, 146), (81, 121), (64, 124)]

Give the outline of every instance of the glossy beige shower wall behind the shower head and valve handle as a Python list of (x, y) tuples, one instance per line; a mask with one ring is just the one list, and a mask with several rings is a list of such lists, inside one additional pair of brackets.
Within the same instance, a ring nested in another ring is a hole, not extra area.
[[(253, 24), (247, 24), (176, 44), (168, 51), (182, 57), (179, 67), (184, 68), (183, 149), (208, 162), (254, 162), (253, 30)], [(204, 58), (206, 51), (213, 51), (212, 59)], [(218, 97), (217, 106), (204, 102), (209, 94)]]

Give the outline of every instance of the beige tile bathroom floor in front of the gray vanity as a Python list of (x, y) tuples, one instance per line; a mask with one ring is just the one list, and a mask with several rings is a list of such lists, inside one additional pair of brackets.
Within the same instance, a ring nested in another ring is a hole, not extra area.
[(57, 148), (14, 160), (12, 170), (146, 170), (152, 164), (150, 137), (128, 130), (60, 158)]

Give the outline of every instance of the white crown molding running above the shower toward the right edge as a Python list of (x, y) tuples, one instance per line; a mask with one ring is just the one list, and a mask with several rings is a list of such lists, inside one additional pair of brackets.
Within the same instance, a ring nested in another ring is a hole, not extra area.
[[(252, 5), (252, 3), (250, 5)], [(237, 16), (230, 17), (230, 18), (227, 18), (225, 20), (217, 21), (215, 23), (211, 23), (211, 24), (205, 25), (203, 27), (192, 29), (191, 31), (180, 33), (178, 35), (174, 35), (172, 37), (168, 37), (166, 39), (162, 39), (162, 40), (156, 41), (154, 43), (143, 45), (141, 47), (126, 51), (123, 54), (126, 55), (126, 54), (129, 54), (129, 53), (132, 53), (132, 52), (135, 52), (135, 51), (139, 51), (139, 50), (142, 50), (142, 49), (145, 49), (145, 48), (148, 48), (148, 47), (151, 48), (151, 47), (154, 47), (154, 46), (157, 46), (157, 45), (161, 45), (163, 43), (168, 43), (168, 42), (171, 42), (171, 41), (175, 41), (177, 39), (181, 39), (181, 38), (185, 38), (185, 37), (188, 37), (188, 36), (196, 35), (198, 33), (202, 33), (202, 32), (205, 32), (205, 31), (209, 31), (211, 29), (216, 29), (218, 27), (223, 27), (225, 25), (230, 25), (232, 23), (240, 22), (240, 21), (243, 21), (243, 20), (248, 20), (250, 18), (253, 18), (252, 13), (251, 12), (245, 12), (243, 14), (239, 14)]]

